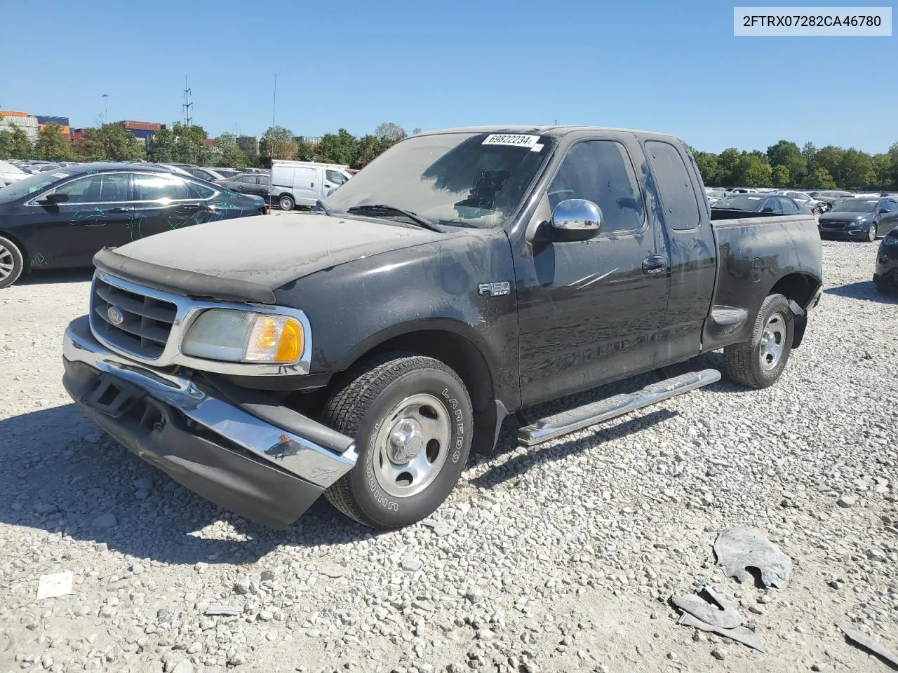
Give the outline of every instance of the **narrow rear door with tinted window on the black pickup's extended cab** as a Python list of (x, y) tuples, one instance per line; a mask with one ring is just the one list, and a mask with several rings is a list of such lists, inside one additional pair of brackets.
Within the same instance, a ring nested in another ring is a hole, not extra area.
[(652, 208), (670, 259), (670, 297), (658, 337), (658, 366), (701, 352), (717, 275), (717, 248), (708, 210), (700, 201), (698, 171), (675, 141), (647, 140), (648, 164), (659, 204)]

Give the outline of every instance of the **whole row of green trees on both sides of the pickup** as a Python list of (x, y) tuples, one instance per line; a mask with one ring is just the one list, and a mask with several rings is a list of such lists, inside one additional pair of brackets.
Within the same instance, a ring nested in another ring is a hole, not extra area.
[[(420, 130), (415, 128), (412, 134)], [(340, 128), (337, 133), (322, 135), (317, 144), (307, 144), (286, 127), (269, 127), (258, 144), (254, 138), (223, 133), (208, 146), (203, 127), (175, 122), (156, 131), (144, 146), (118, 124), (87, 128), (74, 142), (59, 131), (57, 125), (48, 124), (32, 143), (21, 128), (4, 129), (0, 131), (0, 159), (184, 162), (228, 168), (267, 167), (272, 159), (295, 159), (360, 169), (408, 135), (404, 128), (384, 122), (371, 134), (356, 136)], [(730, 147), (717, 154), (694, 148), (692, 153), (706, 185), (898, 189), (898, 143), (878, 154), (835, 145), (818, 150), (812, 143), (799, 148), (788, 140), (770, 145), (766, 152)]]

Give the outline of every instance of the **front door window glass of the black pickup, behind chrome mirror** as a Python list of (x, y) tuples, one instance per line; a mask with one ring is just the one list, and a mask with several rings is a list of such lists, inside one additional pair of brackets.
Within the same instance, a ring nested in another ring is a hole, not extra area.
[(633, 164), (613, 140), (587, 140), (571, 148), (549, 188), (550, 208), (568, 198), (602, 208), (602, 232), (634, 232), (645, 222)]

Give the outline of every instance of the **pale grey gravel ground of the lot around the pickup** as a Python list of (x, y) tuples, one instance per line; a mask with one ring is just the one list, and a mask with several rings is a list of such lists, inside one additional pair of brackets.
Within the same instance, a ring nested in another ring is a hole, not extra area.
[[(898, 649), (898, 302), (875, 254), (824, 242), (823, 302), (772, 389), (721, 382), (539, 450), (506, 428), (430, 525), (386, 534), (323, 501), (273, 532), (175, 485), (62, 389), (89, 273), (4, 290), (0, 671), (885, 670), (835, 628)], [(715, 567), (739, 523), (791, 556), (786, 589)], [(39, 601), (66, 570), (73, 593)], [(766, 653), (675, 624), (666, 599), (705, 583)]]

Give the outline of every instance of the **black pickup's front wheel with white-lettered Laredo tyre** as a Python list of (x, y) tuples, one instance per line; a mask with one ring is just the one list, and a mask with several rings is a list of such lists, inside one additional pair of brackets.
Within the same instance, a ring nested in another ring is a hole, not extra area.
[(374, 529), (422, 520), (453, 490), (468, 459), (471, 398), (444, 363), (389, 354), (339, 389), (324, 422), (356, 438), (356, 467), (324, 492)]

